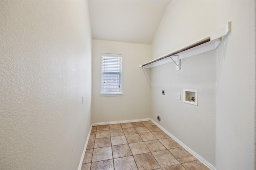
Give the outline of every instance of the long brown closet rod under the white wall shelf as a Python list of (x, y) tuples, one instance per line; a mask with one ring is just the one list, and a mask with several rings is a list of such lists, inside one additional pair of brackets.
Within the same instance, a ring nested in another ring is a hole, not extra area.
[(191, 49), (191, 48), (193, 48), (193, 47), (196, 47), (196, 46), (198, 46), (198, 45), (207, 43), (208, 41), (211, 41), (210, 37), (207, 37), (206, 39), (204, 39), (204, 40), (202, 40), (202, 41), (198, 41), (197, 43), (194, 43), (194, 44), (192, 44), (192, 45), (189, 45), (189, 46), (187, 46), (187, 47), (184, 47), (184, 48), (182, 48), (182, 49), (179, 49), (179, 50), (177, 50), (177, 51), (174, 51), (174, 52), (172, 52), (172, 53), (170, 53), (170, 54), (167, 54), (167, 55), (165, 55), (165, 56), (163, 56), (163, 57), (160, 57), (160, 58), (157, 58), (157, 59), (155, 59), (155, 60), (152, 60), (152, 61), (150, 61), (150, 62), (148, 62), (148, 63), (145, 63), (145, 64), (142, 65), (142, 67), (143, 67), (143, 66), (146, 66), (146, 65), (148, 65), (148, 64), (155, 63), (156, 61), (165, 59), (166, 57), (170, 57), (170, 56), (172, 56), (172, 55), (176, 55), (176, 54), (178, 54), (178, 53), (181, 53), (182, 51), (186, 51), (186, 50)]

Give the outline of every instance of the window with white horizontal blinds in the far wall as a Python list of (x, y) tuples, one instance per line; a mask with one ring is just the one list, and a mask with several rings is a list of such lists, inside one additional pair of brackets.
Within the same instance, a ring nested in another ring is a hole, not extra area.
[(100, 96), (122, 96), (122, 55), (102, 53)]

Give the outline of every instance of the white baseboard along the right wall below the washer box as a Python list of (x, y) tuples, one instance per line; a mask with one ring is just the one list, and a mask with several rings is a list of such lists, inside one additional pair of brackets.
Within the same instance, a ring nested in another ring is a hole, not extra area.
[(204, 158), (202, 158), (199, 154), (194, 152), (192, 149), (190, 149), (188, 146), (186, 146), (184, 143), (182, 143), (180, 140), (178, 140), (174, 135), (172, 135), (170, 132), (166, 131), (162, 126), (160, 126), (156, 121), (151, 119), (153, 123), (155, 123), (160, 129), (162, 129), (167, 135), (169, 135), (174, 141), (176, 141), (178, 144), (180, 144), (184, 149), (186, 149), (190, 154), (195, 156), (200, 162), (202, 162), (205, 166), (207, 166), (210, 170), (216, 170), (216, 168), (210, 164), (208, 161), (206, 161)]

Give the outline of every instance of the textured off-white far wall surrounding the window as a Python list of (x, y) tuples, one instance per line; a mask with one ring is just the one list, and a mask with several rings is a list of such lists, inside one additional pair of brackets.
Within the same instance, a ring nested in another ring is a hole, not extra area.
[[(100, 97), (101, 54), (122, 54), (123, 96)], [(150, 118), (151, 45), (92, 40), (92, 122)]]

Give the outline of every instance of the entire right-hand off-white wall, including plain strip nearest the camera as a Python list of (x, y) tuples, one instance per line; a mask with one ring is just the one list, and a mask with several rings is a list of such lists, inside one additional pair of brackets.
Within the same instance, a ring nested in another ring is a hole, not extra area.
[[(160, 115), (160, 125), (218, 170), (255, 164), (253, 10), (253, 1), (174, 0), (152, 42), (155, 59), (232, 21), (232, 32), (218, 50), (182, 59), (178, 71), (174, 63), (151, 71), (152, 118)], [(198, 106), (177, 100), (184, 88), (198, 89)]]

